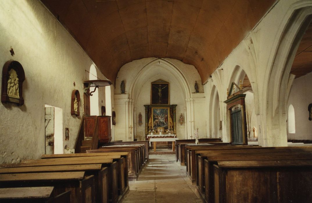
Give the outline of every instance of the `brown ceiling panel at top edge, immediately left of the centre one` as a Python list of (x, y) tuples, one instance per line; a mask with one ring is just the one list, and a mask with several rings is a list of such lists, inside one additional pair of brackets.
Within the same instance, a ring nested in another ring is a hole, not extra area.
[(124, 24), (125, 31), (147, 26), (145, 2), (124, 7), (119, 10), (119, 14)]

